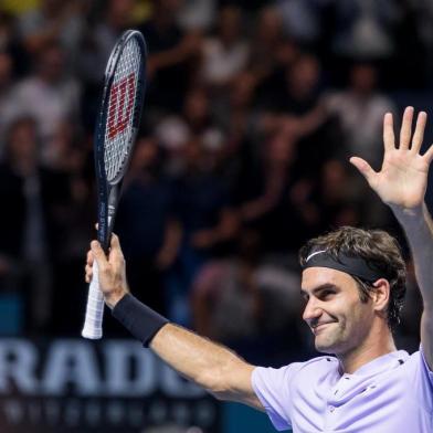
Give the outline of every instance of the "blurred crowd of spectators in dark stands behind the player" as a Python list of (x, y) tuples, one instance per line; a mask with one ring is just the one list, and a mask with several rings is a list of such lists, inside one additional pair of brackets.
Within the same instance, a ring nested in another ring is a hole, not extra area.
[[(147, 93), (116, 220), (133, 293), (251, 360), (309, 353), (297, 249), (345, 224), (401, 237), (348, 158), (379, 168), (383, 114), (404, 95), (429, 109), (432, 19), (423, 0), (3, 0), (0, 299), (22, 303), (14, 331), (80, 332), (94, 122), (134, 28)], [(413, 278), (408, 297), (400, 338), (415, 349)]]

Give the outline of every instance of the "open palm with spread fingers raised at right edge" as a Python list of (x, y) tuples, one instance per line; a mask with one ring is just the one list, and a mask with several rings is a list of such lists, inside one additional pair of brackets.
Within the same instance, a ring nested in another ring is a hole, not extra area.
[(420, 154), (427, 115), (420, 112), (415, 131), (412, 135), (413, 107), (406, 107), (397, 147), (392, 114), (383, 118), (384, 156), (382, 168), (374, 171), (358, 157), (350, 162), (363, 175), (381, 200), (392, 208), (415, 209), (422, 205), (427, 186), (429, 167), (433, 159), (433, 146)]

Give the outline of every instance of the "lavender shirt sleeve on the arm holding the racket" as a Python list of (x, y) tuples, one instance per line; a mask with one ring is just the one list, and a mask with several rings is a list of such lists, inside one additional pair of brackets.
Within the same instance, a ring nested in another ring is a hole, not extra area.
[(292, 427), (289, 383), (297, 363), (279, 369), (256, 367), (252, 374), (252, 386), (270, 420), (278, 431)]

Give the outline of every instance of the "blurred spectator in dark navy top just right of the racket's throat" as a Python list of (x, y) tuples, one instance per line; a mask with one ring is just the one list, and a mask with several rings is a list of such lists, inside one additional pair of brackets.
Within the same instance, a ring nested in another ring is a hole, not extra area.
[(180, 243), (172, 181), (163, 173), (163, 162), (155, 138), (138, 139), (116, 222), (130, 265), (131, 289), (135, 287), (142, 302), (161, 311), (167, 310), (162, 273), (175, 262)]

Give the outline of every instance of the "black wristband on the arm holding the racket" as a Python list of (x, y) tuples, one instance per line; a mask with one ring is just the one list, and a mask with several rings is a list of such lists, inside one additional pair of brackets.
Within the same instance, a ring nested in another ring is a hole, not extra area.
[(112, 315), (145, 347), (148, 347), (158, 330), (169, 323), (130, 294), (126, 294), (115, 305)]

